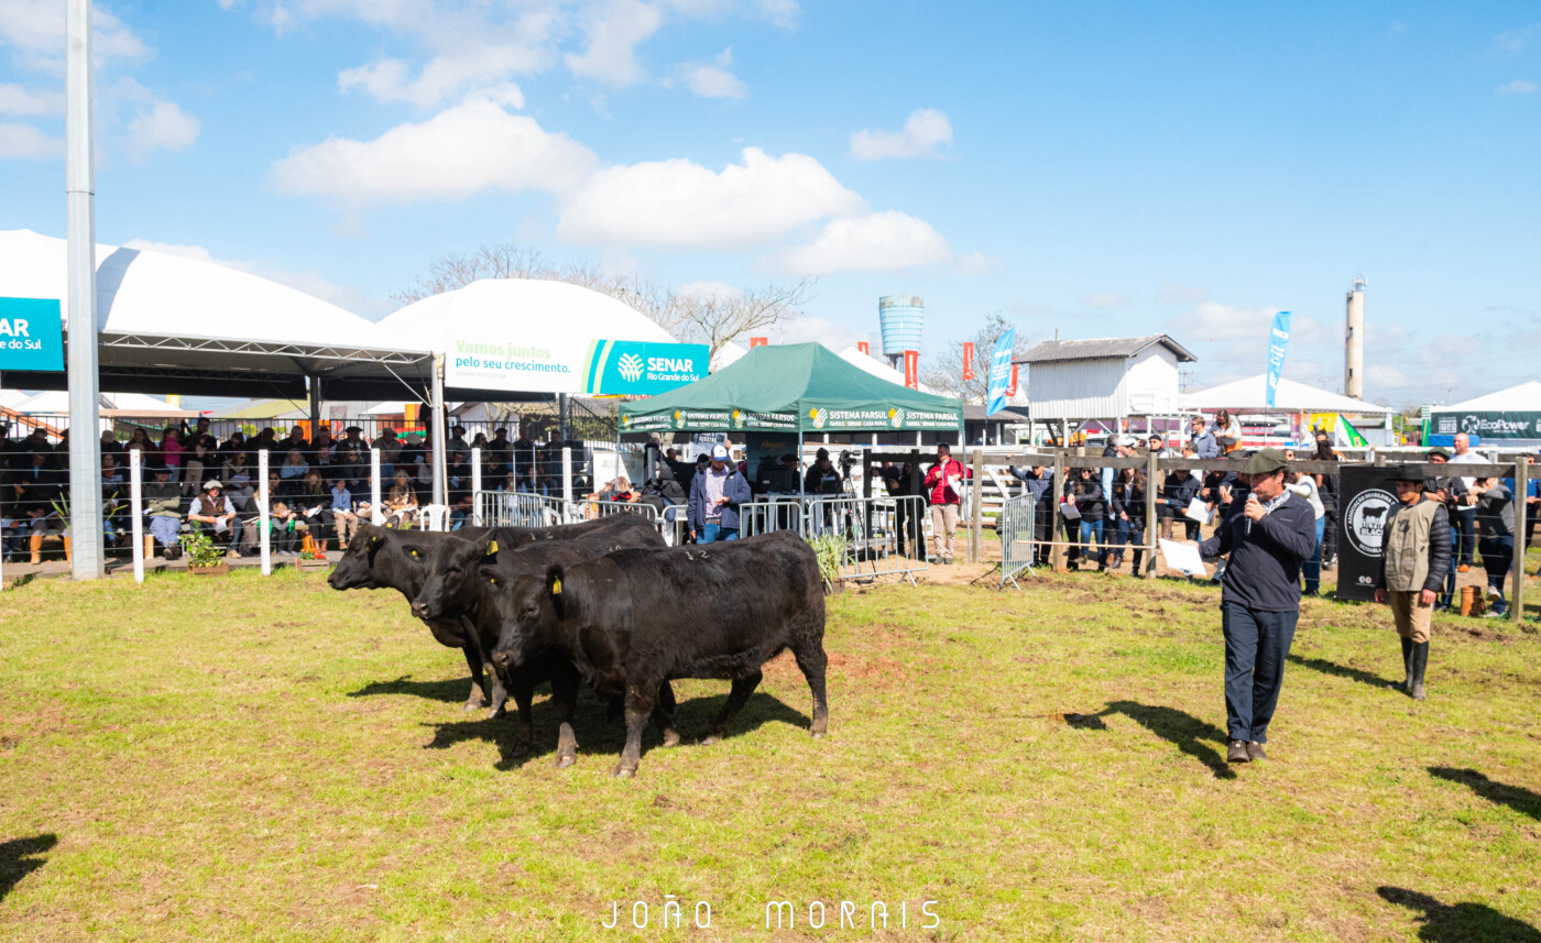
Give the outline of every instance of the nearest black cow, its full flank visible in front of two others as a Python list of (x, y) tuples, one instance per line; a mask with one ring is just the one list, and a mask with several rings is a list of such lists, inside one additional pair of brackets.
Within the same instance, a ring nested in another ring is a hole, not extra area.
[(493, 586), (502, 633), (493, 663), (529, 661), (546, 647), (572, 658), (601, 693), (626, 695), (626, 749), (615, 775), (632, 777), (643, 727), (660, 686), (672, 678), (730, 678), (734, 689), (703, 744), (760, 684), (760, 667), (783, 649), (814, 692), (812, 735), (829, 729), (824, 701), (824, 584), (814, 550), (797, 535), (666, 550), (618, 550), (544, 576)]

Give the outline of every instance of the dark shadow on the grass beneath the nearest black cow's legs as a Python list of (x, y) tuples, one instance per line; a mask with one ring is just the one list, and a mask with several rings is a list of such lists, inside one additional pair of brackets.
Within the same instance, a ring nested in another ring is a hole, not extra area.
[[(587, 689), (586, 689), (587, 690)], [(727, 693), (707, 698), (692, 698), (675, 710), (675, 729), (680, 732), (681, 746), (687, 746), (706, 737), (717, 713), (727, 701)], [(615, 760), (626, 746), (626, 724), (607, 716), (609, 700), (599, 700), (592, 690), (578, 696), (578, 710), (573, 715), (573, 733), (578, 737), (578, 755)], [(552, 761), (556, 753), (556, 707), (550, 698), (536, 701), (530, 709), (530, 723), (535, 726), (535, 743), (530, 752), (518, 755), (518, 715), (513, 704), (509, 704), (507, 716), (496, 720), (455, 721), (445, 724), (424, 724), (433, 729), (433, 740), (424, 744), (425, 750), (442, 750), (467, 740), (481, 740), (498, 746), (499, 770), (510, 770), (536, 760)], [(743, 733), (758, 730), (767, 723), (784, 723), (804, 730), (812, 720), (778, 698), (757, 690), (749, 696), (744, 709), (738, 712), (727, 729), (724, 740), (732, 740)], [(663, 733), (653, 724), (647, 724), (643, 733), (643, 753), (663, 743)]]

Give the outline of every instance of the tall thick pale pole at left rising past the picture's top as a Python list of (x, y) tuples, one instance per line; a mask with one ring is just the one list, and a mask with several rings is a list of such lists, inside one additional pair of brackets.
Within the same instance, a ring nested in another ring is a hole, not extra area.
[(96, 174), (91, 165), (91, 0), (65, 6), (65, 203), (69, 271), (69, 553), (76, 579), (102, 576), (97, 438)]

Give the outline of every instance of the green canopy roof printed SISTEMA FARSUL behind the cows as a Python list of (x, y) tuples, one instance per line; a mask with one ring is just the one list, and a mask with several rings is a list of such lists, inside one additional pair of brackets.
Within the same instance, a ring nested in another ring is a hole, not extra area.
[(963, 401), (891, 384), (821, 344), (755, 347), (687, 387), (621, 405), (621, 431), (920, 431), (963, 425)]

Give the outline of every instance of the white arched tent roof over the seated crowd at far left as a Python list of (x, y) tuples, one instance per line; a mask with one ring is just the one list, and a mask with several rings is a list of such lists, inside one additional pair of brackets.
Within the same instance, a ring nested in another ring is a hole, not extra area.
[[(384, 399), (401, 394), (396, 376), (421, 384), (431, 364), (427, 350), (382, 344), (356, 314), (245, 271), (116, 245), (97, 245), (96, 257), (103, 390), (294, 398), (314, 376), (373, 381)], [(0, 231), (0, 296), (59, 299), (68, 311), (65, 240)], [(65, 374), (17, 371), (5, 382), (63, 390)]]

